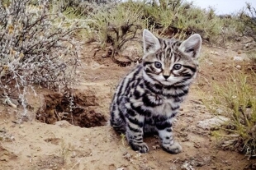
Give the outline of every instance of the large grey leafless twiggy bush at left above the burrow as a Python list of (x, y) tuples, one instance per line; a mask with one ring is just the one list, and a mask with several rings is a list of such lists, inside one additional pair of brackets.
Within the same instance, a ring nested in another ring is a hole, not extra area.
[[(26, 108), (27, 88), (67, 90), (78, 66), (78, 30), (48, 1), (0, 2), (0, 92)], [(36, 5), (35, 5), (36, 3)]]

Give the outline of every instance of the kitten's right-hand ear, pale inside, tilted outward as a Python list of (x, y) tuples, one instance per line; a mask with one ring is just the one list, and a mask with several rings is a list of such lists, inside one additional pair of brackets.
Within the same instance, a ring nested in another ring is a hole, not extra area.
[(179, 46), (179, 50), (186, 53), (189, 57), (197, 58), (201, 50), (200, 34), (193, 34), (188, 39), (183, 41), (183, 43)]

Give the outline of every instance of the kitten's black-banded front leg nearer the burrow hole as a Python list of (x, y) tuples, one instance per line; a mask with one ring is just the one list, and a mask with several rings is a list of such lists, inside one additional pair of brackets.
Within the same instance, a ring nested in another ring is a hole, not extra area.
[(149, 147), (143, 141), (144, 131), (143, 126), (145, 117), (128, 109), (126, 114), (126, 138), (130, 147), (140, 153), (149, 151)]

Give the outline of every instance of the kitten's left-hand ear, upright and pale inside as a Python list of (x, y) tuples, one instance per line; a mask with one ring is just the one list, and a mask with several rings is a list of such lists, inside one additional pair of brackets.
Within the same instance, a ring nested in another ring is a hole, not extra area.
[(154, 53), (160, 48), (159, 39), (146, 29), (143, 30), (143, 48), (144, 53)]

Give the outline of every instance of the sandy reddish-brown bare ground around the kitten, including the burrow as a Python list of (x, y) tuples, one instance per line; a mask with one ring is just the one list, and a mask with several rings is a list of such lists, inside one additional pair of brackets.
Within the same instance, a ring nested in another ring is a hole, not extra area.
[(224, 82), (230, 71), (239, 68), (237, 65), (250, 67), (247, 62), (233, 61), (235, 56), (245, 57), (243, 51), (203, 44), (199, 75), (174, 125), (183, 152), (168, 154), (159, 146), (157, 136), (149, 136), (145, 138), (149, 153), (140, 154), (130, 149), (124, 136), (117, 135), (107, 125), (114, 88), (134, 66), (119, 67), (111, 58), (102, 57), (105, 52), (95, 48), (96, 45), (84, 48), (77, 73), (79, 82), (73, 92), (78, 109), (72, 117), (65, 112), (69, 102), (64, 94), (40, 87), (36, 96), (31, 93), (30, 109), (21, 123), (17, 121), (17, 115), (23, 113), (21, 107), (0, 105), (0, 169), (241, 170), (256, 167), (255, 159), (220, 149), (212, 131), (197, 126), (197, 122), (215, 116), (202, 102), (214, 96), (212, 85)]

